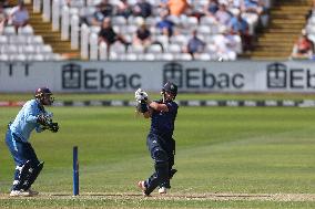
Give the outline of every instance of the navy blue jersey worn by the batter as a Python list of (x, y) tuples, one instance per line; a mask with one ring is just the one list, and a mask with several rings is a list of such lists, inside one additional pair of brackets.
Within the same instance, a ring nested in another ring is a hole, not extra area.
[[(162, 101), (155, 101), (162, 104)], [(172, 137), (174, 130), (174, 123), (177, 115), (179, 105), (175, 102), (166, 102), (165, 105), (169, 112), (152, 112), (151, 115), (151, 133), (160, 136)]]

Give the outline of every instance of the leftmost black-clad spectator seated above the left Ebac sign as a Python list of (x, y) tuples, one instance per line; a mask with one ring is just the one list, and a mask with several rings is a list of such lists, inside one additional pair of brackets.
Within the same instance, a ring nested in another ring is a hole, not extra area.
[(116, 41), (120, 41), (121, 43), (123, 43), (125, 48), (128, 48), (128, 45), (130, 44), (126, 42), (124, 36), (115, 33), (115, 31), (112, 28), (111, 19), (104, 18), (102, 27), (101, 27), (101, 31), (99, 32), (99, 43), (100, 42), (106, 43), (108, 58), (110, 56), (111, 45)]

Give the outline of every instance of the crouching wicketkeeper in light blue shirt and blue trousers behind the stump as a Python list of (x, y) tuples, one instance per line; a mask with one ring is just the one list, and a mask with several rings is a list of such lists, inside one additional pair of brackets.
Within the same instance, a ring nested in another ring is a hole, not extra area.
[(35, 196), (39, 192), (31, 190), (31, 186), (43, 168), (34, 149), (29, 143), (33, 129), (38, 133), (49, 129), (57, 133), (58, 123), (52, 122), (52, 114), (44, 109), (44, 105), (53, 103), (52, 93), (48, 87), (35, 91), (35, 100), (28, 101), (13, 123), (9, 123), (6, 143), (16, 163), (14, 180), (10, 196)]

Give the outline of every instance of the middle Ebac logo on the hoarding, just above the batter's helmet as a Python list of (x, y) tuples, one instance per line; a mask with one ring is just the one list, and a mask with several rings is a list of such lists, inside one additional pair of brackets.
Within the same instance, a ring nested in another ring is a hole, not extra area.
[[(174, 82), (179, 88), (200, 90), (241, 90), (244, 87), (244, 75), (242, 73), (211, 73), (204, 67), (183, 67), (182, 64), (171, 62), (163, 67), (163, 83)], [(214, 71), (213, 71), (214, 72)]]

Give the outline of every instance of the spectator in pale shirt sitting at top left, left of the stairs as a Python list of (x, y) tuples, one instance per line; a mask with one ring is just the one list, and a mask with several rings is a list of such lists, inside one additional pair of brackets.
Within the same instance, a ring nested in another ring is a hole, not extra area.
[(10, 19), (17, 31), (29, 23), (29, 11), (23, 1), (19, 1), (19, 4), (10, 12)]

